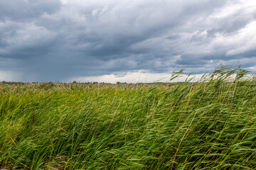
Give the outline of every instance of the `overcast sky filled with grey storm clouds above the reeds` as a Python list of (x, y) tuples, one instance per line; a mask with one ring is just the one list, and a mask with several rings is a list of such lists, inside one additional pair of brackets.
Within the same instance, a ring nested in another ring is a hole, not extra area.
[(0, 0), (0, 81), (256, 70), (255, 0)]

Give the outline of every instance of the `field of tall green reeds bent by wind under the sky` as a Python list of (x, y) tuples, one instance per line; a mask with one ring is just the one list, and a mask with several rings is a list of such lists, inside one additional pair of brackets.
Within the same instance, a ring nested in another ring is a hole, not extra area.
[(240, 68), (168, 84), (5, 82), (0, 121), (6, 169), (256, 169), (256, 79)]

